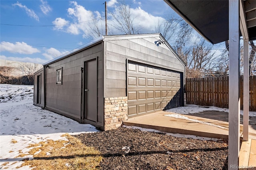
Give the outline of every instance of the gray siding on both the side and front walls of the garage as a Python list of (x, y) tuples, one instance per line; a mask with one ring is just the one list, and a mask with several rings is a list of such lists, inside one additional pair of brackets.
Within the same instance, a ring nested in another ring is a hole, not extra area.
[[(161, 74), (165, 73), (164, 70), (185, 72), (184, 63), (176, 56), (168, 44), (155, 45), (154, 42), (161, 38), (160, 34), (105, 36), (104, 40), (93, 43), (86, 47), (86, 49), (80, 49), (63, 58), (57, 58), (52, 62), (49, 61), (45, 65), (47, 66), (44, 69), (45, 73), (42, 69), (34, 74), (34, 104), (40, 107), (45, 106), (48, 110), (79, 121), (81, 103), (82, 114), (84, 114), (84, 92), (81, 99), (81, 67), (84, 67), (84, 61), (97, 57), (97, 121), (94, 122), (94, 119), (83, 119), (82, 122), (103, 128), (104, 97), (127, 96), (126, 67), (128, 60), (152, 65), (154, 68), (165, 68), (162, 69), (163, 73)], [(56, 70), (58, 69), (62, 69), (62, 84), (56, 84)], [(141, 71), (138, 70), (138, 72)], [(85, 74), (83, 74), (83, 79)], [(38, 91), (38, 75), (41, 75), (42, 84), (40, 104), (37, 103), (36, 93)], [(45, 78), (44, 75), (46, 76)], [(44, 91), (44, 80), (46, 80), (46, 91)], [(84, 86), (84, 82), (82, 86)], [(44, 99), (46, 100), (44, 101)]]

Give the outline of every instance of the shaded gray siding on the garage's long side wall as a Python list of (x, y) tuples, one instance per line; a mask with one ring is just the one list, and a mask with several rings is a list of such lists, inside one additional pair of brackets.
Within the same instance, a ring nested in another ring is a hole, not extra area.
[[(103, 43), (99, 43), (56, 61), (46, 69), (46, 107), (75, 120), (81, 114), (81, 67), (84, 61), (98, 57), (98, 120), (95, 126), (103, 127)], [(62, 85), (56, 85), (56, 70), (62, 68)]]

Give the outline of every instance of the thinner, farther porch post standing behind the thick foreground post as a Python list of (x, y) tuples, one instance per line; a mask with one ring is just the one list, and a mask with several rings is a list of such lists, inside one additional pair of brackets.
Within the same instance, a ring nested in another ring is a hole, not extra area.
[(248, 141), (249, 131), (249, 40), (244, 40), (244, 126), (243, 140)]

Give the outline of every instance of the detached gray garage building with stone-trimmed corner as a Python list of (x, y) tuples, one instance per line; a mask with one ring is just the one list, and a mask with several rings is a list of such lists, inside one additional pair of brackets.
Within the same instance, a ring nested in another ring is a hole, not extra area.
[(161, 34), (102, 36), (34, 73), (34, 105), (104, 130), (184, 106), (185, 64)]

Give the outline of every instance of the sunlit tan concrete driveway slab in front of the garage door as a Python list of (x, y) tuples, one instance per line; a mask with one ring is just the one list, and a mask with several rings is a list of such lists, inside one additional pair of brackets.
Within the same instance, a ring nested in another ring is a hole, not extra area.
[[(228, 138), (228, 114), (219, 111), (188, 115), (158, 111), (128, 118), (126, 126), (152, 128), (163, 132), (192, 134), (212, 138)], [(241, 117), (242, 118), (242, 117)], [(243, 125), (240, 125), (242, 136)], [(256, 125), (249, 125), (249, 138), (256, 139)]]

